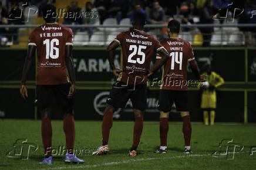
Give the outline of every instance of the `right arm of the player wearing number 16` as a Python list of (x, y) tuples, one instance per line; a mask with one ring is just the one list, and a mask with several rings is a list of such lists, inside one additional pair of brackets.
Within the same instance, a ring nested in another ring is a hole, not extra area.
[(66, 60), (66, 67), (69, 73), (69, 80), (71, 82), (68, 96), (72, 96), (75, 93), (75, 82), (76, 82), (76, 74), (75, 74), (75, 68), (74, 68), (74, 62), (73, 62), (72, 49), (73, 49), (73, 46), (70, 46), (70, 45), (66, 46), (65, 60)]

